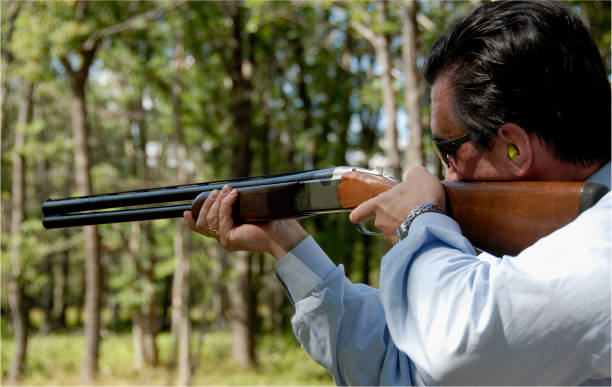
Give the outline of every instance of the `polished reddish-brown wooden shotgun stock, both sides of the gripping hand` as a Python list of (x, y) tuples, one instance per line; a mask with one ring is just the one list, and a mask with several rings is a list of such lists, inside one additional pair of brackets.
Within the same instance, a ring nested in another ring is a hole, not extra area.
[[(345, 208), (354, 208), (394, 185), (360, 172), (348, 172), (342, 180), (338, 196)], [(442, 185), (447, 214), (474, 246), (495, 255), (518, 254), (608, 192), (601, 184), (584, 182), (443, 181)]]

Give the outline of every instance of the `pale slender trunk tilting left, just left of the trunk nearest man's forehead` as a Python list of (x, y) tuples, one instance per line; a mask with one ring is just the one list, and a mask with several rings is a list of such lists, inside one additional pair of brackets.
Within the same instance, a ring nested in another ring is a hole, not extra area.
[[(376, 18), (379, 25), (384, 25), (387, 22), (387, 3), (385, 1), (375, 2)], [(382, 148), (385, 151), (385, 156), (389, 160), (389, 168), (393, 174), (401, 178), (402, 176), (402, 160), (397, 144), (397, 108), (395, 102), (395, 94), (393, 92), (392, 76), (391, 76), (391, 54), (389, 52), (389, 38), (385, 34), (378, 35), (376, 39), (376, 60), (380, 66), (380, 81), (382, 87), (383, 109), (385, 111), (385, 132), (382, 139)]]

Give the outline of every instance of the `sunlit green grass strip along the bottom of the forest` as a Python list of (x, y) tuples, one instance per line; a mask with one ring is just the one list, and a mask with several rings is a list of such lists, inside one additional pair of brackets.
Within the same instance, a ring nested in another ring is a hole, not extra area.
[[(194, 336), (197, 336), (194, 335)], [(2, 337), (1, 370), (6, 377), (13, 342)], [(142, 371), (134, 369), (134, 352), (130, 334), (109, 334), (101, 341), (98, 385), (173, 385), (175, 376), (164, 365), (170, 353), (172, 338), (168, 333), (157, 337), (161, 366)], [(193, 340), (193, 349), (196, 337)], [(199, 348), (191, 384), (196, 386), (241, 385), (332, 385), (328, 372), (296, 343), (293, 337), (262, 337), (259, 341), (255, 369), (242, 369), (231, 360), (232, 337), (225, 332), (207, 333)], [(23, 385), (82, 385), (80, 367), (85, 340), (78, 333), (54, 333), (31, 336), (28, 342)], [(197, 351), (193, 351), (194, 353)]]

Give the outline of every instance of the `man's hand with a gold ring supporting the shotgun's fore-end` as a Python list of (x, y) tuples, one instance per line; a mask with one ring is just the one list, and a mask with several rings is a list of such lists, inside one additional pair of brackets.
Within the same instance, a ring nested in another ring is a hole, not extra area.
[(226, 185), (220, 192), (214, 190), (206, 198), (197, 220), (191, 211), (185, 211), (183, 216), (189, 228), (217, 239), (226, 250), (262, 251), (271, 253), (277, 259), (308, 236), (293, 219), (236, 227), (232, 218), (232, 205), (237, 198), (238, 191)]

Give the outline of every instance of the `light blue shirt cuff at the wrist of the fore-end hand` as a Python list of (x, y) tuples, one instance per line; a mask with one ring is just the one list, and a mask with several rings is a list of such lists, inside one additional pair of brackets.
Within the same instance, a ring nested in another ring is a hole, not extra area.
[(275, 265), (276, 277), (293, 305), (334, 270), (334, 263), (311, 236), (300, 242)]

